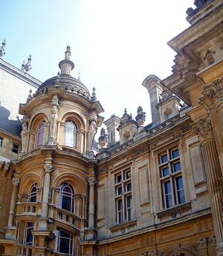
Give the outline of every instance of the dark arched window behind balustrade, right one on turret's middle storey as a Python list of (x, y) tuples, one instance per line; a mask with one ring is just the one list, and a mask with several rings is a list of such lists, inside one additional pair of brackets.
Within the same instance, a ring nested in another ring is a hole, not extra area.
[(74, 187), (67, 182), (59, 186), (58, 207), (74, 213)]

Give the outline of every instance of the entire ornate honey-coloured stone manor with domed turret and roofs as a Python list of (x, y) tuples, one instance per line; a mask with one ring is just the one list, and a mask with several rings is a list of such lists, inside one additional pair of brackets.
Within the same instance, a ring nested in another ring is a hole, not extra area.
[(2, 39), (1, 255), (223, 255), (223, 1), (196, 0), (187, 21), (172, 75), (139, 81), (149, 125), (140, 106), (105, 121), (70, 46), (42, 83)]

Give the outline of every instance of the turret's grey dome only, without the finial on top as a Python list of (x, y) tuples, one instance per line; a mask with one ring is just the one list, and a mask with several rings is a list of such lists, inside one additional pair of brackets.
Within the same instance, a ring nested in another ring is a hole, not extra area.
[[(50, 78), (42, 83), (38, 90), (36, 90), (35, 96), (40, 93), (45, 93), (47, 91), (47, 87), (55, 87), (57, 78), (57, 76), (54, 76), (54, 78)], [(84, 84), (76, 78), (72, 78), (70, 75), (59, 75), (59, 85), (64, 86), (65, 90), (69, 92), (78, 93), (91, 100), (90, 93)]]

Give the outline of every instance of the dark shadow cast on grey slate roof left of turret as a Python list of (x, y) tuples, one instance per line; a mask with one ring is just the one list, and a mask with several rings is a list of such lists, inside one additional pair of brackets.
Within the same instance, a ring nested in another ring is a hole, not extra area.
[(22, 121), (17, 117), (17, 120), (10, 120), (10, 110), (0, 104), (0, 129), (10, 132), (10, 134), (20, 137), (22, 131)]

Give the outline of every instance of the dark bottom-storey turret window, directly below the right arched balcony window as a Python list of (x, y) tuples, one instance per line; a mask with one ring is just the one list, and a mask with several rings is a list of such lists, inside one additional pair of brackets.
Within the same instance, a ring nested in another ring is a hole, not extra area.
[(74, 238), (71, 234), (62, 231), (59, 228), (56, 228), (56, 243), (55, 243), (55, 251), (60, 252), (64, 255), (71, 256), (73, 255), (73, 243)]

